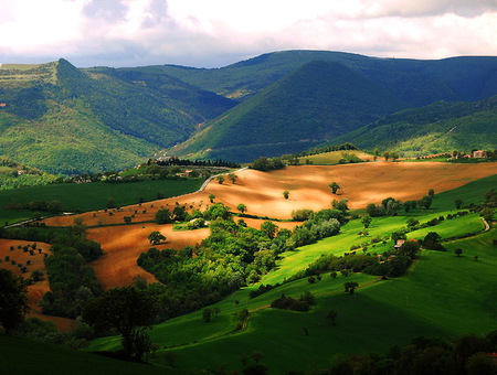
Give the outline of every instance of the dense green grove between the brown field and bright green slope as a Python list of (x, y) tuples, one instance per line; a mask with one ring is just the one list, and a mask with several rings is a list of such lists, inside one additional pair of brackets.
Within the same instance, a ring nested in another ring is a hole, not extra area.
[(311, 212), (294, 231), (271, 221), (261, 229), (235, 223), (229, 207), (215, 203), (203, 213), (211, 221), (211, 235), (197, 247), (158, 250), (150, 248), (138, 265), (161, 282), (147, 286), (160, 300), (162, 319), (214, 303), (242, 286), (256, 282), (273, 269), (279, 254), (336, 235), (346, 222), (336, 210)]

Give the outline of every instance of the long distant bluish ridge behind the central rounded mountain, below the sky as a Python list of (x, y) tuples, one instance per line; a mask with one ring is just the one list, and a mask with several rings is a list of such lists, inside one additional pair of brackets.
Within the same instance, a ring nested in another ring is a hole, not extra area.
[(435, 100), (478, 100), (497, 94), (497, 57), (421, 61), (377, 58), (332, 51), (282, 51), (218, 69), (176, 65), (144, 69), (176, 76), (194, 86), (243, 100), (314, 61), (342, 64), (394, 93), (410, 107)]

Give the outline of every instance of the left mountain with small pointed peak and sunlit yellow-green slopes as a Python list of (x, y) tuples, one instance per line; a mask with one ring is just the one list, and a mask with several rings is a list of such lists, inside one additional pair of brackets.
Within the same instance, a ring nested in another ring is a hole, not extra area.
[(52, 173), (133, 167), (234, 104), (165, 75), (2, 65), (0, 153)]

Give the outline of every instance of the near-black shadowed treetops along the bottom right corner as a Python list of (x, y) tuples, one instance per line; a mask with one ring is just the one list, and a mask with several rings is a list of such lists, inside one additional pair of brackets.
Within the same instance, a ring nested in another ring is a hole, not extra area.
[(497, 331), (486, 336), (467, 334), (451, 341), (417, 336), (406, 346), (393, 346), (387, 354), (336, 354), (329, 374), (389, 375), (491, 375), (497, 351)]

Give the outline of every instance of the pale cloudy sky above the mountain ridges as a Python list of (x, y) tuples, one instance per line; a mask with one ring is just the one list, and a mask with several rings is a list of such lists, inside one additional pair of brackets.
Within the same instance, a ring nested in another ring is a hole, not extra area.
[(2, 0), (0, 64), (221, 67), (263, 53), (497, 56), (497, 0)]

